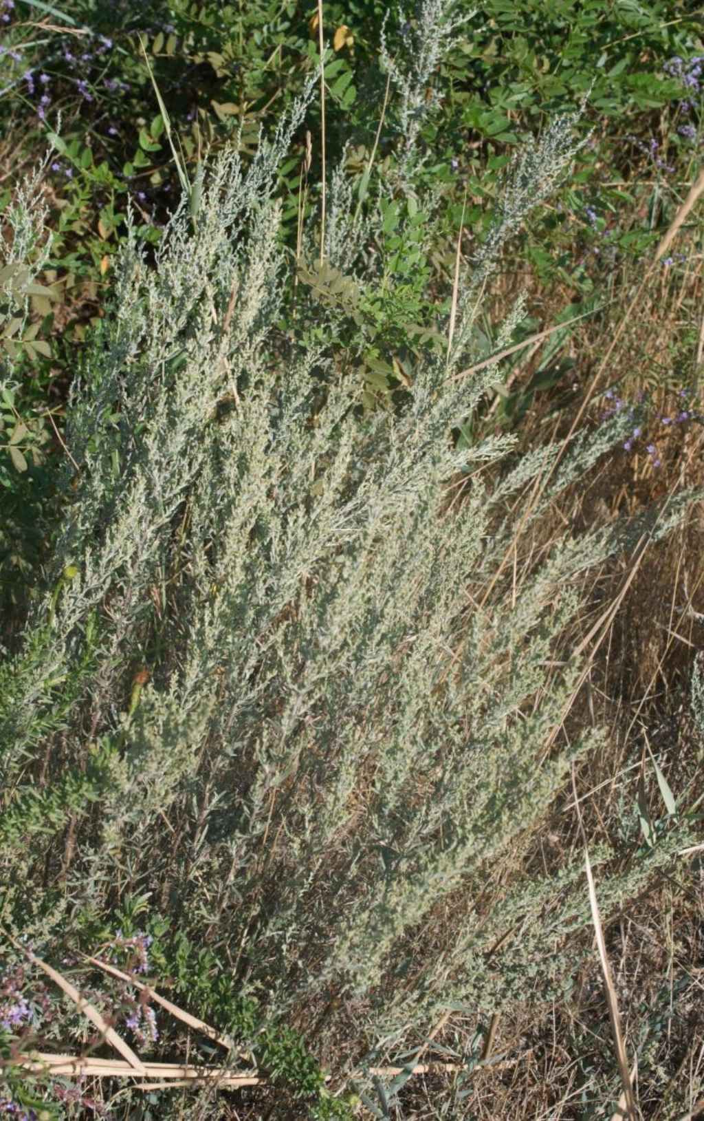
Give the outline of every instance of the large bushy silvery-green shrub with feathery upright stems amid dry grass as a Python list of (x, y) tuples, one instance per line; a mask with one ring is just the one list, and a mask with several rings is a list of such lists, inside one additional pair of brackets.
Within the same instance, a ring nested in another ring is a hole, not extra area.
[[(282, 346), (275, 330), (275, 172), (304, 108), (246, 174), (236, 148), (210, 165), (195, 229), (184, 203), (153, 267), (130, 231), (79, 361), (45, 594), (0, 667), (3, 921), (50, 954), (76, 937), (75, 916), (151, 892), (303, 1035), (340, 997), (350, 1040), (367, 1040), (351, 1068), (407, 1051), (449, 1008), (482, 1016), (562, 992), (570, 936), (590, 923), (582, 855), (508, 877), (488, 915), (476, 904), (529, 845), (571, 765), (603, 743), (586, 730), (544, 751), (582, 668), (571, 658), (548, 678), (580, 574), (644, 532), (663, 537), (700, 495), (565, 534), (516, 595), (505, 574), (479, 603), (515, 535), (506, 499), (527, 494), (558, 448), (526, 454), (494, 489), (482, 472), (515, 437), (454, 448), (451, 428), (498, 369), (458, 377), (473, 356), (470, 296), (520, 209), (569, 169), (571, 121), (509, 179), (462, 279), (449, 359), (429, 352), (403, 408), (360, 417), (359, 386), (335, 362), (336, 309), (316, 307), (316, 343)], [(364, 285), (379, 214), (354, 228), (355, 254), (339, 172), (332, 187), (327, 257)], [(519, 300), (499, 345), (522, 315)], [(525, 534), (628, 427), (617, 415), (578, 434)], [(458, 471), (471, 481), (449, 508)], [(57, 844), (69, 819), (72, 856)], [(594, 849), (602, 911), (684, 839), (673, 831), (618, 872)], [(62, 872), (50, 899), (47, 862)], [(311, 1046), (346, 1031), (332, 1016)]]

